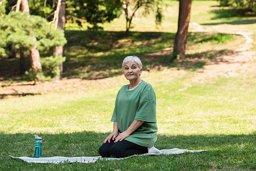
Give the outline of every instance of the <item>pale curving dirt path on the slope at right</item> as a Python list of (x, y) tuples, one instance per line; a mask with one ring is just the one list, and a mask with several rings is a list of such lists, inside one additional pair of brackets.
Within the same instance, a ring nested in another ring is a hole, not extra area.
[[(215, 31), (217, 32), (218, 26), (206, 28), (198, 24), (192, 24), (193, 29), (191, 31)], [(251, 51), (253, 47), (253, 39), (250, 35), (253, 32), (226, 32), (223, 30), (218, 30), (220, 33), (227, 34), (239, 34), (244, 36), (245, 44), (241, 48), (233, 50), (228, 54), (221, 54), (216, 56), (211, 62), (204, 66), (204, 70), (192, 79), (194, 82), (204, 81), (206, 78), (222, 76), (234, 76), (240, 73), (250, 72), (256, 73), (256, 52)]]

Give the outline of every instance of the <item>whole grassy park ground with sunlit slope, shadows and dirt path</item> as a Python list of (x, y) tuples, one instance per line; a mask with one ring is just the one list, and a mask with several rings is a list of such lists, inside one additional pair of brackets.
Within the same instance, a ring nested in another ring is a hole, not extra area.
[[(18, 59), (1, 58), (2, 170), (256, 169), (256, 17), (217, 1), (193, 1), (186, 59), (171, 61), (179, 2), (164, 2), (161, 26), (153, 14), (136, 16), (128, 37), (123, 15), (102, 24), (104, 31), (66, 24), (62, 80), (33, 85), (18, 74)], [(33, 157), (34, 134), (42, 137), (43, 157), (98, 156), (112, 131), (116, 94), (129, 83), (121, 69), (127, 55), (151, 68), (141, 78), (156, 92), (155, 147), (207, 152), (92, 164), (31, 164), (8, 157)], [(152, 68), (157, 62), (160, 67)]]

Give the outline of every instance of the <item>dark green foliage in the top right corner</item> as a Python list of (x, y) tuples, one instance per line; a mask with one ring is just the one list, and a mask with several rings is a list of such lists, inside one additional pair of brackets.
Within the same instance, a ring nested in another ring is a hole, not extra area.
[(256, 1), (253, 0), (218, 0), (220, 6), (234, 7), (248, 14), (256, 14)]

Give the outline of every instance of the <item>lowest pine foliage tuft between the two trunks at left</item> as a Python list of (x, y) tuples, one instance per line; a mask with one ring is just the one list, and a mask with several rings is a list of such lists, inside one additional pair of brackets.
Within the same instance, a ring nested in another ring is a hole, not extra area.
[(62, 57), (60, 55), (40, 58), (42, 73), (44, 73), (45, 76), (51, 76), (52, 78), (59, 77), (59, 65), (65, 60), (66, 57)]

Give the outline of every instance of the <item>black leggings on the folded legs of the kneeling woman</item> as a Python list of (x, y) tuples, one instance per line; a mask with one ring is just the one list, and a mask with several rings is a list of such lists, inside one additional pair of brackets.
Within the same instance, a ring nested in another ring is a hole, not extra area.
[(102, 157), (123, 158), (145, 153), (148, 153), (147, 147), (126, 140), (118, 141), (116, 143), (111, 140), (110, 143), (106, 142), (99, 147), (99, 155)]

